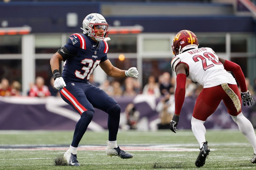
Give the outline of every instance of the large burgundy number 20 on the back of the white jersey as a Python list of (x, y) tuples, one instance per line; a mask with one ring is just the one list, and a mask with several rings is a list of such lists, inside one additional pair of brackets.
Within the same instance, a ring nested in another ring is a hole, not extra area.
[[(195, 56), (193, 56), (193, 60), (194, 60), (195, 62), (198, 62), (199, 59), (202, 61), (203, 69), (204, 69), (204, 70), (207, 70), (207, 69), (213, 67), (214, 64), (216, 64), (216, 65), (221, 65), (221, 64), (222, 64), (222, 63), (221, 63), (219, 60), (217, 60), (216, 57), (215, 57), (212, 53), (210, 53), (210, 52), (205, 52), (205, 53), (204, 53), (204, 56), (202, 56), (202, 55), (195, 55)], [(211, 61), (212, 64), (207, 65), (206, 60)]]

